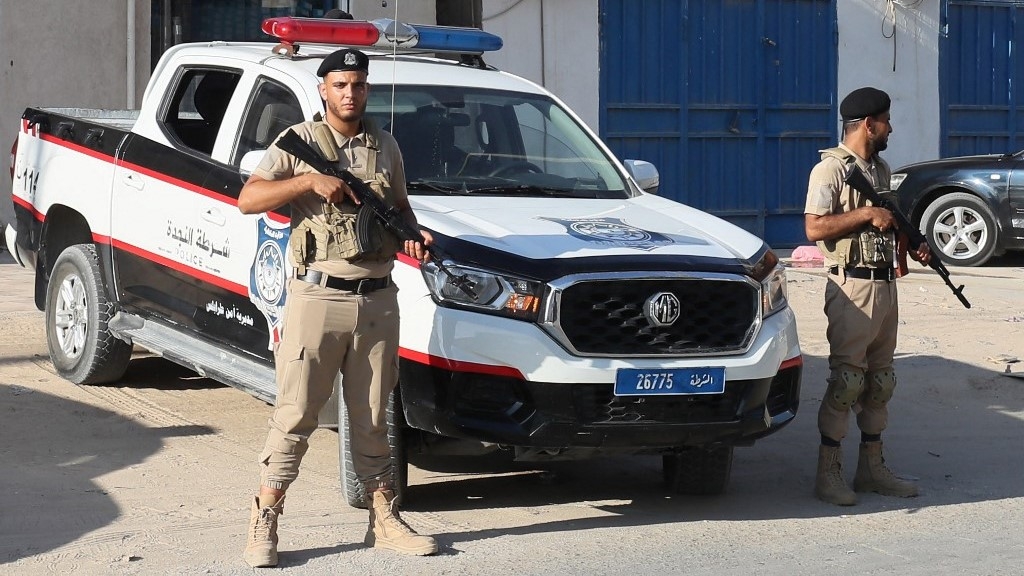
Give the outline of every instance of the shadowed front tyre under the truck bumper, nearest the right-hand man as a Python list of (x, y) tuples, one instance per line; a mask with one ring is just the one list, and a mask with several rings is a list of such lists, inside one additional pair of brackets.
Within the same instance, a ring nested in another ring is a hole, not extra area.
[(732, 446), (684, 448), (662, 456), (665, 485), (677, 494), (712, 496), (725, 492), (732, 472)]

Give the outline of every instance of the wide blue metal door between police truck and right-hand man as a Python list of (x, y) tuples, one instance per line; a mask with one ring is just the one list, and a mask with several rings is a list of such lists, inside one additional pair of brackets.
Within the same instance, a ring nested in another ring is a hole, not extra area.
[(776, 247), (806, 242), (836, 141), (835, 0), (601, 0), (601, 135), (660, 194)]

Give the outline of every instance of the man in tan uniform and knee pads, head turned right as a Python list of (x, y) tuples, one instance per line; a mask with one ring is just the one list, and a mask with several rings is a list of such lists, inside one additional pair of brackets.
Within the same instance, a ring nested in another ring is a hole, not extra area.
[[(869, 87), (843, 99), (843, 142), (821, 151), (821, 161), (811, 170), (804, 208), (807, 239), (817, 242), (828, 272), (824, 312), (829, 375), (818, 411), (821, 445), (814, 493), (844, 506), (857, 502), (856, 492), (918, 495), (918, 487), (897, 478), (882, 456), (887, 404), (896, 387), (896, 263), (905, 244), (898, 242), (892, 213), (871, 206), (844, 181), (850, 166), (856, 165), (874, 190), (889, 191), (889, 165), (879, 153), (892, 133), (890, 104), (888, 94)], [(931, 257), (927, 244), (909, 253), (923, 263)], [(861, 433), (853, 490), (843, 480), (840, 448), (851, 410)]]

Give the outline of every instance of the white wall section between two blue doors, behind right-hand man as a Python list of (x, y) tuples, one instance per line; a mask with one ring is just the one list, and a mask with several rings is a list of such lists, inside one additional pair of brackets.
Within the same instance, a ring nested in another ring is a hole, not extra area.
[[(939, 4), (902, 0), (887, 13), (886, 0), (840, 0), (837, 99), (861, 86), (893, 99), (893, 133), (883, 153), (893, 168), (939, 157)], [(893, 46), (895, 41), (895, 54)], [(893, 68), (895, 67), (895, 70)], [(838, 108), (838, 107), (837, 107)], [(839, 118), (836, 120), (839, 124)]]

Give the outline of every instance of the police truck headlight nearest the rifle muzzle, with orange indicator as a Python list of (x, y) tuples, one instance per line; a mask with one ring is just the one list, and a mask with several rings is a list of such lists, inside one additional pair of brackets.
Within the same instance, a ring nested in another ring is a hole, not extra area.
[(456, 286), (436, 264), (427, 262), (420, 271), (438, 303), (529, 322), (537, 320), (544, 292), (540, 282), (447, 262), (445, 265), (453, 275), (466, 277), (476, 297)]

